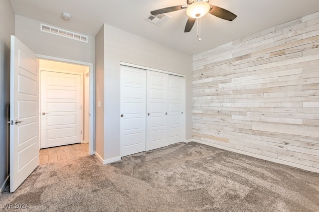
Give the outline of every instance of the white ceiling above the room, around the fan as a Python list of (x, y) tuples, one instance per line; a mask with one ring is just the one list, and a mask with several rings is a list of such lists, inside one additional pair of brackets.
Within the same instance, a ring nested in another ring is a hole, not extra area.
[[(227, 21), (207, 14), (184, 33), (186, 11), (167, 13), (171, 19), (157, 26), (145, 20), (150, 11), (186, 4), (186, 0), (10, 0), (15, 14), (95, 36), (103, 23), (140, 35), (188, 54), (196, 54), (244, 36), (319, 11), (319, 0), (210, 0), (237, 15)], [(62, 12), (72, 15), (70, 20)], [(156, 49), (155, 49), (156, 51)]]

